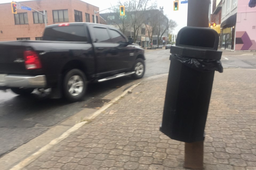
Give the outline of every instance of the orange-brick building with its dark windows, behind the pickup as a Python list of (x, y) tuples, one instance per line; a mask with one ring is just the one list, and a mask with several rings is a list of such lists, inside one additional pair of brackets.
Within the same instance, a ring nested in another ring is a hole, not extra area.
[[(47, 13), (47, 25), (66, 22), (94, 22), (94, 10), (99, 7), (80, 0), (35, 0), (21, 2), (37, 11)], [(22, 5), (21, 5), (22, 6)], [(45, 27), (43, 15), (17, 9), (12, 14), (11, 3), (0, 4), (0, 41), (40, 40)], [(99, 23), (99, 13), (96, 14)]]

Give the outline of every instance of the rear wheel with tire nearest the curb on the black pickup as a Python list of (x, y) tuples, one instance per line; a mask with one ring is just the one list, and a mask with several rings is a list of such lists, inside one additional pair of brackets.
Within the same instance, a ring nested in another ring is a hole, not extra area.
[(66, 73), (63, 81), (63, 93), (67, 100), (71, 102), (79, 101), (86, 91), (86, 77), (79, 69), (73, 69)]

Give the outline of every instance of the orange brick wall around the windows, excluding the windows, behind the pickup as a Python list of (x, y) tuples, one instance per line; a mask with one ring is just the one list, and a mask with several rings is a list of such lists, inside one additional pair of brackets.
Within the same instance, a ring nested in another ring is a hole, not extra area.
[[(53, 10), (68, 10), (69, 22), (75, 22), (74, 10), (82, 12), (82, 20), (85, 22), (85, 13), (90, 14), (90, 22), (94, 10), (99, 11), (99, 8), (90, 5), (80, 0), (37, 0), (21, 2), (38, 11), (47, 11), (48, 23), (58, 24), (53, 22)], [(11, 3), (0, 4), (0, 41), (17, 40), (17, 38), (29, 37), (30, 40), (35, 40), (35, 37), (42, 37), (45, 27), (44, 23), (34, 24), (33, 10), (17, 9), (17, 13), (27, 12), (28, 24), (15, 25), (14, 14), (11, 13)], [(99, 18), (99, 13), (96, 14)], [(61, 22), (63, 23), (63, 22)], [(65, 23), (65, 22), (64, 22)]]

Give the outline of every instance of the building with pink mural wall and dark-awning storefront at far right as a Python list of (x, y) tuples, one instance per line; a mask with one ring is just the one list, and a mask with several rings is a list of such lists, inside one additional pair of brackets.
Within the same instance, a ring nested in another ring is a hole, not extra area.
[(256, 7), (250, 0), (222, 0), (220, 46), (256, 50)]

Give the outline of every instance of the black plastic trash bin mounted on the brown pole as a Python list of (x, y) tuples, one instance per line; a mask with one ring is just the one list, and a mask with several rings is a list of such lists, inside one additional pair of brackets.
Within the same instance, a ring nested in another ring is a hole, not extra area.
[(214, 71), (223, 71), (219, 37), (209, 28), (184, 27), (172, 45), (160, 131), (182, 142), (204, 140)]

